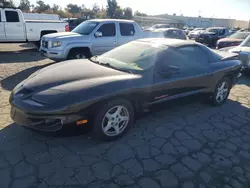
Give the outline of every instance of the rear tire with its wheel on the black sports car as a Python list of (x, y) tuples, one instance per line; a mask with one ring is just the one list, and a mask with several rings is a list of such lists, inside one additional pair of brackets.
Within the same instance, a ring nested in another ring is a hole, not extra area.
[(231, 88), (232, 88), (231, 80), (228, 77), (223, 77), (217, 83), (216, 88), (212, 94), (212, 97), (211, 97), (212, 105), (221, 106), (222, 104), (224, 104), (228, 98)]

